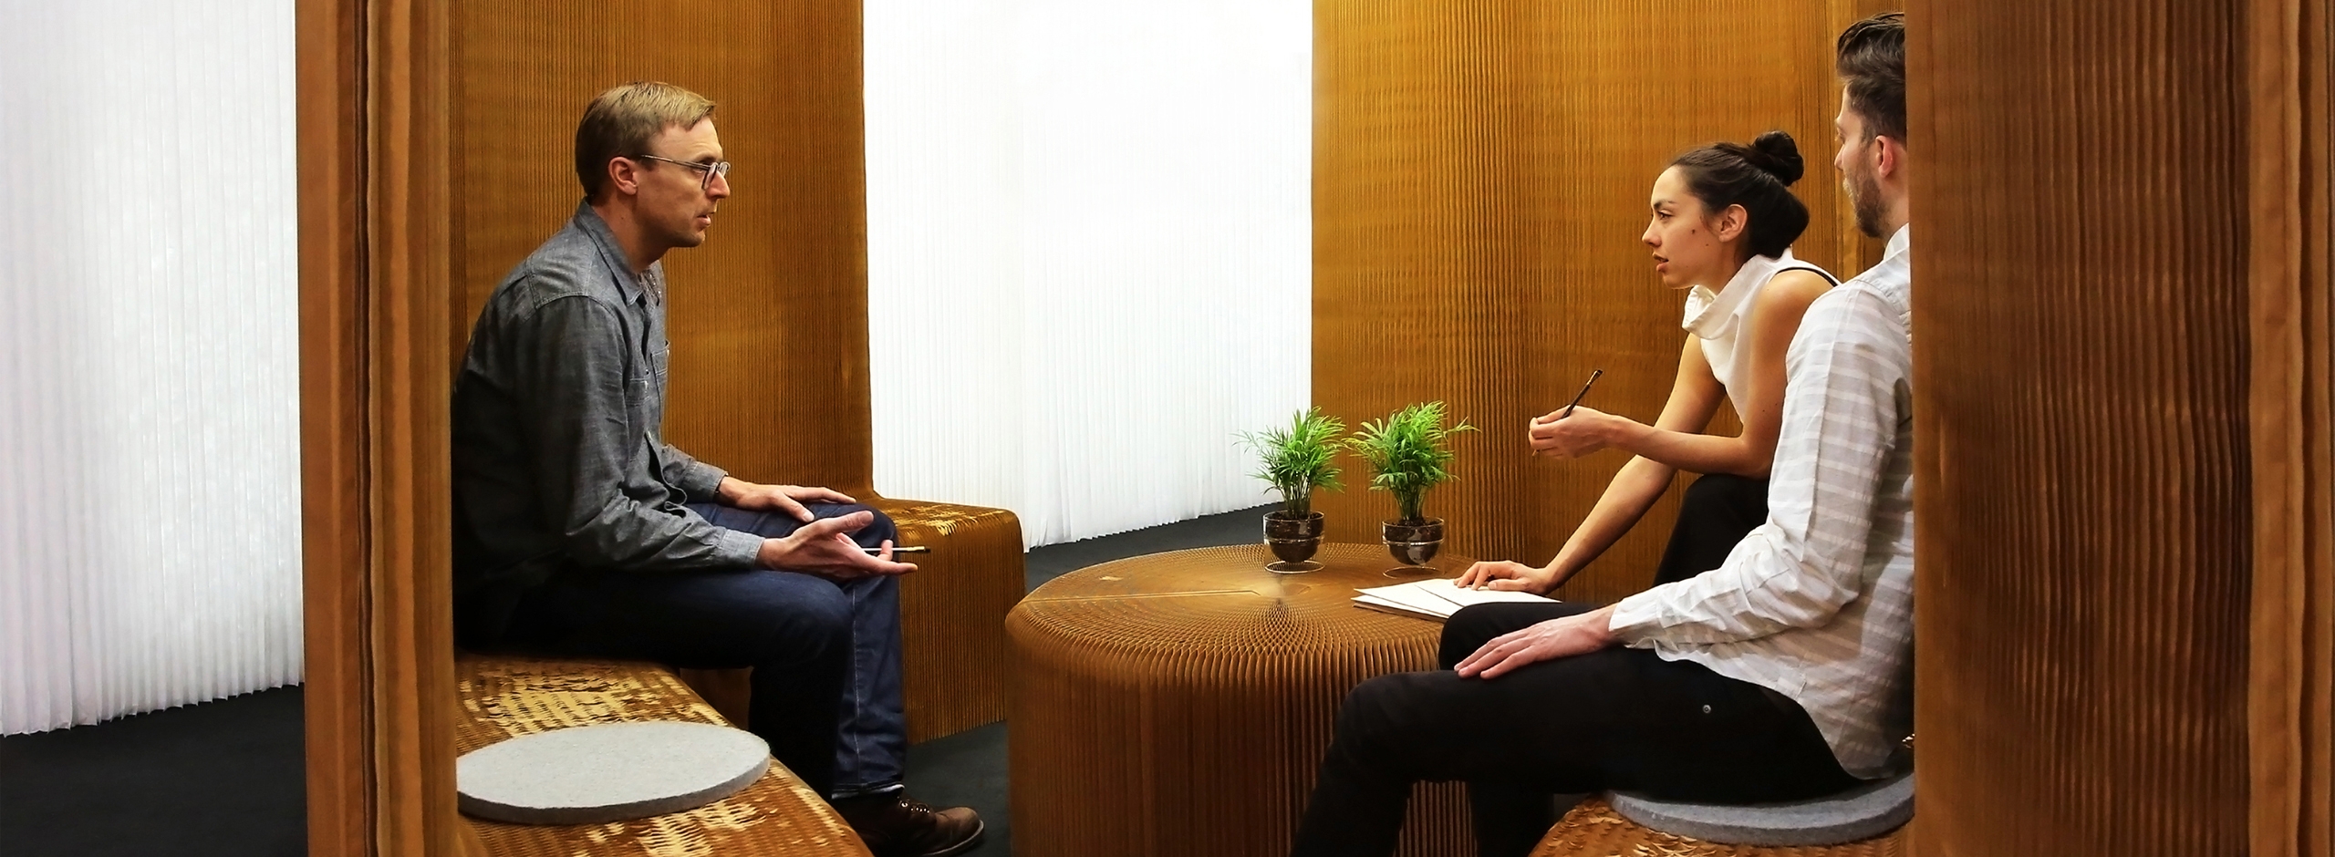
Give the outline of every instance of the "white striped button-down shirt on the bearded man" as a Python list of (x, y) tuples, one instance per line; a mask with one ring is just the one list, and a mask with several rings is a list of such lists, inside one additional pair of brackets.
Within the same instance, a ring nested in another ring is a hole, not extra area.
[(1791, 696), (1840, 768), (1891, 773), (1912, 724), (1910, 238), (1807, 306), (1786, 353), (1768, 523), (1728, 560), (1625, 598), (1611, 628), (1665, 661)]

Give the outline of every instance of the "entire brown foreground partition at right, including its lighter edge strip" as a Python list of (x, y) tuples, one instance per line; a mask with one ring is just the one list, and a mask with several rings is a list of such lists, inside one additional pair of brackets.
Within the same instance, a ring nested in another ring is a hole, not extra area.
[(2326, 5), (1908, 12), (1915, 848), (2326, 857)]

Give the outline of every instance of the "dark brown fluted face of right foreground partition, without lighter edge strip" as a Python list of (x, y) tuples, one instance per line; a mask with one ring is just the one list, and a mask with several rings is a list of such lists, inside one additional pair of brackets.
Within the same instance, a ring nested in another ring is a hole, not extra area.
[(2244, 852), (2242, 2), (1908, 30), (1917, 852)]

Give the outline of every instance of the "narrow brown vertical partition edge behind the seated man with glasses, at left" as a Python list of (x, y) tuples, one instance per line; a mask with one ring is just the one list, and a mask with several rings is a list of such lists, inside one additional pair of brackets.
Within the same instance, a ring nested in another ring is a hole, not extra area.
[(446, 2), (297, 28), (308, 852), (479, 855), (446, 577)]

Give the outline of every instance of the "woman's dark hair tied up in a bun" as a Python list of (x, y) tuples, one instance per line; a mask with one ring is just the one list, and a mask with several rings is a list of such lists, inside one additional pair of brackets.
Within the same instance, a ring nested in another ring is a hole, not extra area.
[(1749, 215), (1744, 245), (1756, 257), (1782, 257), (1807, 231), (1807, 205), (1791, 194), (1800, 180), (1800, 145), (1784, 131), (1742, 142), (1712, 142), (1670, 161), (1712, 215), (1742, 205)]

